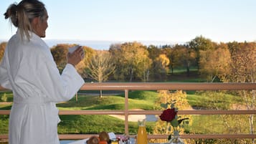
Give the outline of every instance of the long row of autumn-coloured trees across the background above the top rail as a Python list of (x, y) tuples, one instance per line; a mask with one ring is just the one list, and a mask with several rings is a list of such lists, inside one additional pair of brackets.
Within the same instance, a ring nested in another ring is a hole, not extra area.
[[(51, 51), (60, 72), (66, 64), (68, 48), (57, 44)], [(0, 59), (6, 42), (0, 44)], [(111, 44), (108, 50), (83, 46), (85, 59), (77, 65), (87, 80), (125, 82), (167, 81), (174, 69), (196, 67), (207, 82), (255, 82), (256, 42), (217, 43), (199, 36), (185, 44), (143, 45), (140, 42)]]

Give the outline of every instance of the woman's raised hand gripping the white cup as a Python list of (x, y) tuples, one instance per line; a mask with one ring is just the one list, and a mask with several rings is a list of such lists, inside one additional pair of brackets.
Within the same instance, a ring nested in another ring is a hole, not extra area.
[(74, 67), (85, 57), (85, 52), (82, 46), (78, 47), (75, 52), (67, 53), (67, 63), (72, 64)]

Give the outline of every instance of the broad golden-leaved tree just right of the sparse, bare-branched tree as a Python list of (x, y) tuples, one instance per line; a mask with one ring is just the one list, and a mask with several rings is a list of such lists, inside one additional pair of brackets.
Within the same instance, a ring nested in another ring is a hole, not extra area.
[(143, 80), (145, 68), (148, 67), (145, 62), (150, 62), (146, 46), (138, 42), (113, 44), (110, 46), (110, 53), (116, 65), (114, 74), (116, 79), (129, 80), (129, 82), (133, 79)]

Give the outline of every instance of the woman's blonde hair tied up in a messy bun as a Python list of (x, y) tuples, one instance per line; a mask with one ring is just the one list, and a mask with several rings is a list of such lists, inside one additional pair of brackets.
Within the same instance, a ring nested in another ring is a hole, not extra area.
[(14, 27), (20, 31), (22, 39), (24, 36), (30, 39), (29, 31), (34, 32), (32, 28), (32, 20), (35, 17), (40, 17), (43, 21), (46, 19), (47, 10), (41, 1), (37, 0), (22, 0), (19, 4), (11, 4), (4, 13), (5, 19), (9, 19)]

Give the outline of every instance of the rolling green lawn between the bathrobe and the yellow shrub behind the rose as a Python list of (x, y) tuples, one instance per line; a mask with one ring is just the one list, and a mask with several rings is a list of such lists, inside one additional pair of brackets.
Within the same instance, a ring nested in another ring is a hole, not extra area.
[[(153, 110), (156, 92), (135, 91), (129, 93), (129, 109)], [(60, 110), (124, 110), (124, 96), (81, 96), (69, 102), (57, 104)], [(124, 121), (108, 115), (60, 115), (59, 133), (100, 133), (105, 130), (124, 133)], [(153, 130), (154, 123), (147, 123), (148, 132)], [(129, 133), (136, 134), (137, 122), (129, 122)]]

